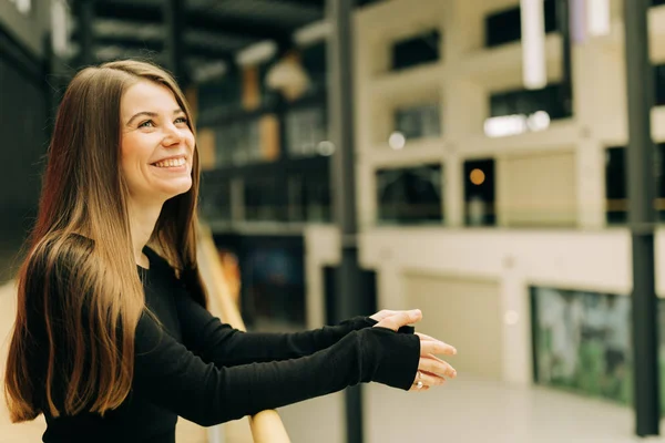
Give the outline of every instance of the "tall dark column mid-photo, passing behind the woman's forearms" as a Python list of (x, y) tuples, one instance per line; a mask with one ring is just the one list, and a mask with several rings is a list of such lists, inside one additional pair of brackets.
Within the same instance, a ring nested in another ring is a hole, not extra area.
[[(354, 0), (327, 0), (331, 32), (328, 41), (330, 74), (328, 110), (330, 138), (336, 146), (331, 161), (332, 205), (340, 233), (341, 260), (337, 269), (336, 320), (361, 313), (362, 293), (358, 264), (356, 214), (356, 162), (354, 146), (352, 34)], [(347, 443), (362, 443), (361, 384), (345, 392)]]

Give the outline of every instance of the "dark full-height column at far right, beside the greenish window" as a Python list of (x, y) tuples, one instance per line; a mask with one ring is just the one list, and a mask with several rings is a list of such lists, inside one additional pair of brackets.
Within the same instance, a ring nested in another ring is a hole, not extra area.
[(654, 79), (648, 52), (649, 0), (625, 1), (628, 103), (628, 223), (633, 239), (634, 406), (638, 436), (658, 435), (658, 330), (654, 274)]

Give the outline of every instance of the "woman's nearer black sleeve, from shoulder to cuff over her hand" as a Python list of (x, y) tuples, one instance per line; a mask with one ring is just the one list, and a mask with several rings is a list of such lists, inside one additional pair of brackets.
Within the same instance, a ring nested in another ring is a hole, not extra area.
[(144, 315), (136, 329), (134, 391), (187, 420), (213, 425), (376, 381), (408, 390), (420, 341), (366, 328), (298, 359), (217, 368)]

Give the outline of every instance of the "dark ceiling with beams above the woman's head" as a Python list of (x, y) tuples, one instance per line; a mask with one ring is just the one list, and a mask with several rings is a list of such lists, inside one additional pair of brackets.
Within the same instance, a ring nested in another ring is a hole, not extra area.
[[(163, 9), (170, 0), (78, 0), (93, 1), (93, 55), (102, 62), (127, 56), (147, 56), (164, 62), (166, 40)], [(234, 63), (248, 47), (273, 41), (293, 44), (293, 34), (307, 24), (324, 20), (325, 0), (182, 0), (184, 2), (184, 65), (190, 71), (215, 63)], [(357, 1), (357, 7), (377, 0)], [(78, 55), (78, 27), (72, 30), (72, 53)]]

